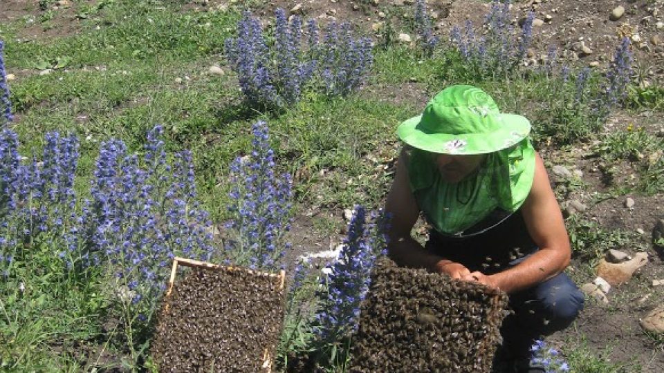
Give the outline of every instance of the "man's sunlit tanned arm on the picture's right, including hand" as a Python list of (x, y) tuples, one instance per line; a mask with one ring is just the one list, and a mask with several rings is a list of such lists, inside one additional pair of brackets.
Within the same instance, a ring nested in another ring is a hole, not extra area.
[(465, 279), (479, 280), (510, 294), (548, 280), (569, 265), (571, 249), (560, 206), (555, 200), (542, 158), (540, 155), (535, 157), (533, 187), (522, 206), (522, 213), (528, 233), (540, 250), (505, 271), (490, 276), (473, 272)]

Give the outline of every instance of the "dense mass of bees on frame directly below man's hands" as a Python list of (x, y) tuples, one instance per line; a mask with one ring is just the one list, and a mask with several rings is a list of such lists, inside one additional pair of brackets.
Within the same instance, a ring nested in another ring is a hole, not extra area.
[(422, 269), (374, 267), (353, 337), (353, 373), (490, 372), (506, 294)]

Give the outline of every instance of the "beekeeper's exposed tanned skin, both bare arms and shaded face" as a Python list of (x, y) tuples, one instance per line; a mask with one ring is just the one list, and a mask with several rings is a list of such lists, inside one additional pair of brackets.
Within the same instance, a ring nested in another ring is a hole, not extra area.
[[(539, 154), (535, 154), (533, 186), (521, 211), (528, 233), (540, 250), (518, 265), (492, 275), (483, 274), (481, 271), (471, 272), (460, 263), (431, 254), (412, 238), (411, 231), (420, 210), (410, 190), (406, 157), (405, 151), (401, 151), (394, 182), (385, 204), (385, 210), (392, 216), (389, 255), (398, 264), (425, 268), (461, 280), (477, 281), (508, 294), (542, 283), (560, 274), (569, 265), (569, 236)], [(482, 161), (482, 155), (436, 155), (439, 172), (447, 182), (463, 180), (477, 169)]]

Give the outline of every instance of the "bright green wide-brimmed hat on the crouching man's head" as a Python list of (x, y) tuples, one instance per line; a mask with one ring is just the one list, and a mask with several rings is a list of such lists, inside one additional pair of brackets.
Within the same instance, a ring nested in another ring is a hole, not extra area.
[(474, 86), (450, 86), (427, 104), (422, 115), (397, 128), (406, 144), (431, 153), (485, 154), (517, 144), (531, 131), (531, 122), (500, 113), (490, 95)]

